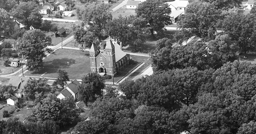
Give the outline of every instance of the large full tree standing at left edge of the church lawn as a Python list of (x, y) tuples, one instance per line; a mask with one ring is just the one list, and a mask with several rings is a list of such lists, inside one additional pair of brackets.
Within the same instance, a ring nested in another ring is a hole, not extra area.
[(39, 29), (26, 31), (18, 42), (17, 48), (22, 54), (26, 55), (27, 69), (29, 71), (37, 71), (42, 68), (44, 65), (43, 58), (46, 57), (45, 53), (52, 52), (52, 49), (46, 48), (52, 45), (51, 38)]

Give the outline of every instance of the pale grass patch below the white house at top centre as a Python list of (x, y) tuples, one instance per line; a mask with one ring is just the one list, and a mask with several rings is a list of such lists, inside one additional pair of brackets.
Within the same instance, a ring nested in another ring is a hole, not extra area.
[(113, 12), (113, 18), (118, 18), (119, 15), (122, 17), (130, 16), (130, 15), (136, 15), (135, 9), (126, 9), (126, 6), (122, 6), (120, 9)]

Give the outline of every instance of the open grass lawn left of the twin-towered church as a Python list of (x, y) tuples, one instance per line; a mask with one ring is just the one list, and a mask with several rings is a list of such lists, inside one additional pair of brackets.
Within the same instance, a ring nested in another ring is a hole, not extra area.
[(40, 71), (29, 71), (27, 76), (57, 77), (57, 70), (67, 71), (70, 79), (81, 79), (90, 72), (89, 52), (58, 49), (55, 54), (49, 55), (44, 60), (44, 68)]

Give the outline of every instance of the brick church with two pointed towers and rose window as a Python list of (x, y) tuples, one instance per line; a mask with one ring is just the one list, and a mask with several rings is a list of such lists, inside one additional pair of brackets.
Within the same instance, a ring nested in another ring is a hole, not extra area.
[(111, 39), (108, 40), (104, 51), (97, 50), (94, 45), (90, 48), (91, 72), (116, 76), (117, 71), (128, 66), (129, 60), (130, 54), (122, 51), (122, 43), (113, 43)]

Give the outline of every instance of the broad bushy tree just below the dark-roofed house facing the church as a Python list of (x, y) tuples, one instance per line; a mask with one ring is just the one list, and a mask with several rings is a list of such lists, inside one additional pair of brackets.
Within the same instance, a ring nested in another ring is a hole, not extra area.
[(80, 110), (76, 108), (74, 97), (70, 95), (62, 100), (56, 97), (47, 97), (37, 103), (33, 114), (38, 120), (55, 121), (61, 128), (70, 125), (79, 117)]

